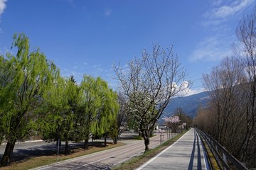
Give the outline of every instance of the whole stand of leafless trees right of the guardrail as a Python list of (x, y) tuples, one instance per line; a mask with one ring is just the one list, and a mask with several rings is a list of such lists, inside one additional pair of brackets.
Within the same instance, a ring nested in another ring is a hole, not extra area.
[(211, 101), (198, 110), (194, 123), (252, 168), (256, 167), (256, 11), (242, 18), (236, 35), (235, 56), (203, 74)]

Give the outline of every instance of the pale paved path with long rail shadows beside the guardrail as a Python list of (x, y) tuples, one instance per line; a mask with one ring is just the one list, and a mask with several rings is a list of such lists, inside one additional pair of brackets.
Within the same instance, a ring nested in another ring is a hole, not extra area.
[(207, 169), (201, 140), (196, 130), (186, 132), (170, 147), (153, 157), (140, 169)]

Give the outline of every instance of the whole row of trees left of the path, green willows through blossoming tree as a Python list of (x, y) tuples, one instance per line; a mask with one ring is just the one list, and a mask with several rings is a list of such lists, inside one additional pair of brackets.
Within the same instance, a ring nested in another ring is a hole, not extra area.
[[(119, 93), (100, 77), (85, 74), (80, 84), (74, 77), (61, 77), (60, 69), (39, 49), (31, 51), (29, 39), (15, 34), (12, 47), (16, 55), (0, 55), (0, 142), (6, 141), (1, 166), (11, 162), (17, 140), (40, 134), (46, 141), (84, 141), (90, 136), (112, 137), (117, 143), (128, 122), (144, 138), (149, 137), (171, 98), (191, 86), (185, 81), (172, 47), (153, 45), (152, 52), (114, 66)], [(128, 121), (129, 120), (129, 121)]]

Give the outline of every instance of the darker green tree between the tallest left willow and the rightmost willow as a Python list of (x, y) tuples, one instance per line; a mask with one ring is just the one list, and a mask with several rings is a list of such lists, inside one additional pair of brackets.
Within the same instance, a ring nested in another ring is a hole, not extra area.
[(78, 85), (73, 77), (59, 77), (48, 92), (45, 106), (48, 114), (38, 121), (38, 130), (46, 141), (65, 141), (65, 154), (68, 154), (68, 141), (73, 140)]

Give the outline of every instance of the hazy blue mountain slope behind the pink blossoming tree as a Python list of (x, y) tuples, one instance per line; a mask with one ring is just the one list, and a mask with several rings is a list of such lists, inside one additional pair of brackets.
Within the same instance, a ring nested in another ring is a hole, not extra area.
[(196, 115), (198, 106), (206, 106), (210, 101), (208, 91), (201, 92), (199, 94), (193, 94), (191, 96), (183, 96), (172, 98), (168, 106), (166, 106), (164, 113), (160, 117), (160, 121), (164, 116), (169, 117), (174, 115), (176, 108), (182, 108), (186, 115), (193, 118)]

